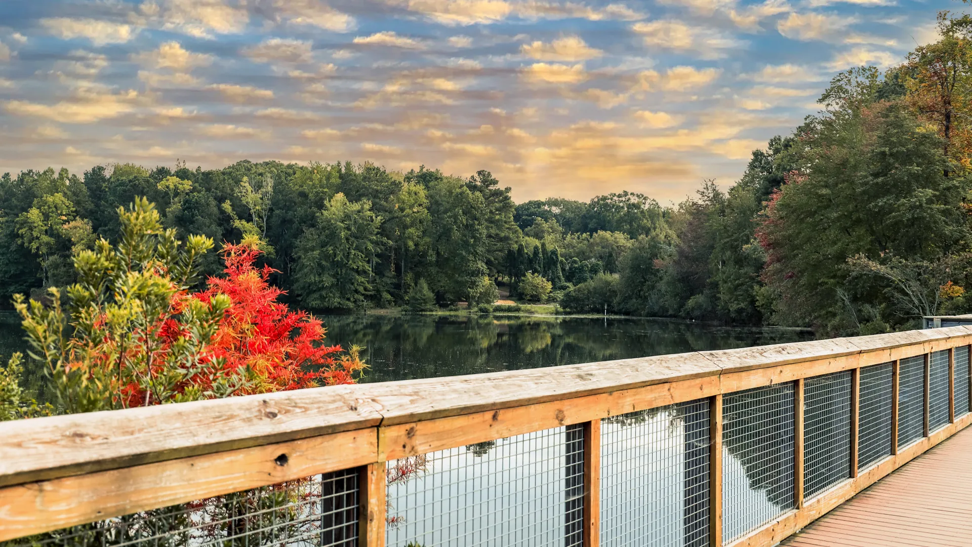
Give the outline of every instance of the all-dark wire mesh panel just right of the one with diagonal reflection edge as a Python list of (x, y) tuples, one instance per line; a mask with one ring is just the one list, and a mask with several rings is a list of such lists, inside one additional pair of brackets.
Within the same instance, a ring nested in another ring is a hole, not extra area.
[(804, 496), (851, 477), (851, 371), (804, 381)]

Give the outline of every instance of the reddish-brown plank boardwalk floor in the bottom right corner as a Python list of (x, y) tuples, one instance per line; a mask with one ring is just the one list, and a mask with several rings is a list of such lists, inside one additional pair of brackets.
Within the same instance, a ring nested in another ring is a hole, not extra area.
[(781, 545), (972, 546), (972, 427), (858, 493)]

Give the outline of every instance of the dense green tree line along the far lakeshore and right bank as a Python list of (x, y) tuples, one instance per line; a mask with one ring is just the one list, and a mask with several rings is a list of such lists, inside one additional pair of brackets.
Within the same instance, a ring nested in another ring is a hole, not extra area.
[[(376, 164), (96, 165), (0, 178), (0, 291), (73, 281), (70, 257), (120, 240), (146, 197), (185, 239), (259, 241), (309, 310), (514, 298), (733, 324), (885, 332), (969, 310), (972, 19), (884, 73), (836, 76), (821, 110), (755, 150), (728, 190), (663, 206), (621, 192), (514, 203), (488, 170)], [(215, 254), (205, 274), (220, 272)]]

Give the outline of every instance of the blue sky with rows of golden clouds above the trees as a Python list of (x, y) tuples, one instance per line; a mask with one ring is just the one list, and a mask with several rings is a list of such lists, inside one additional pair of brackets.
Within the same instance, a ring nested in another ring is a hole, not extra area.
[(738, 180), (954, 0), (2, 0), (0, 172), (487, 169), (515, 201)]

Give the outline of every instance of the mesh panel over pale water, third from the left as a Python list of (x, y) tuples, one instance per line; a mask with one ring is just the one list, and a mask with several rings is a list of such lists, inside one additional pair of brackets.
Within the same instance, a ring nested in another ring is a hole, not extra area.
[(601, 545), (709, 545), (708, 399), (601, 420)]

